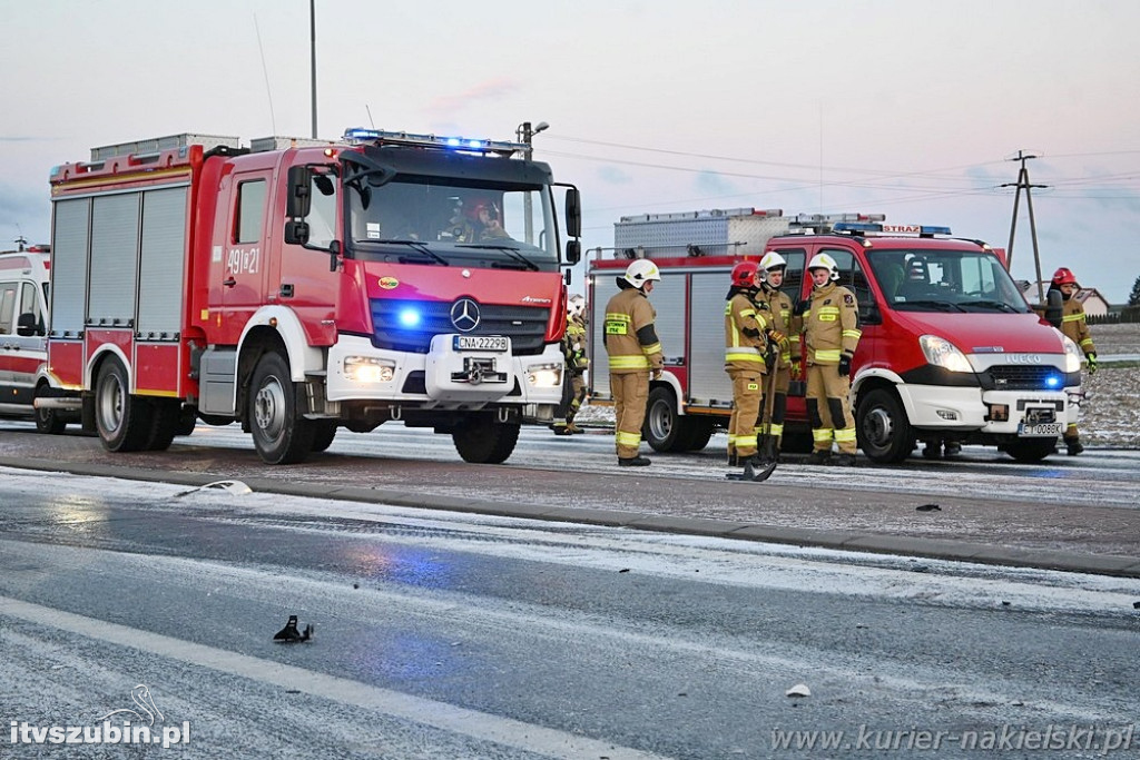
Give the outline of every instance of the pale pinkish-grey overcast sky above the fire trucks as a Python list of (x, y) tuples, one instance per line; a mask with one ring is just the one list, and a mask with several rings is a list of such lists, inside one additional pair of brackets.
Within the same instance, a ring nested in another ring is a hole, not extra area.
[[(179, 132), (308, 137), (308, 0), (0, 0), (0, 250), (47, 242), (51, 166)], [(1135, 0), (316, 0), (318, 132), (514, 139), (613, 222), (882, 212), (1009, 244), (1019, 149), (1042, 270), (1140, 276)], [(1032, 279), (1021, 203), (1013, 275)], [(580, 288), (580, 280), (575, 289)]]

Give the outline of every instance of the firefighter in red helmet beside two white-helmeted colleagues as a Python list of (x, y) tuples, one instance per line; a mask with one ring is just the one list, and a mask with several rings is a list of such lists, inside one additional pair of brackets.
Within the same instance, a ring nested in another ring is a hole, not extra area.
[(756, 420), (764, 394), (768, 350), (767, 320), (756, 297), (760, 268), (742, 261), (732, 268), (732, 285), (724, 304), (724, 370), (732, 378), (732, 416), (728, 418), (728, 465), (743, 465), (757, 457)]

